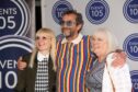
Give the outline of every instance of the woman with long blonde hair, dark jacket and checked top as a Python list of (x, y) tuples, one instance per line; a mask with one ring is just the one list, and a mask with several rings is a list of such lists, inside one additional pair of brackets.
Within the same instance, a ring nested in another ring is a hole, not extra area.
[(33, 51), (22, 56), (27, 67), (24, 70), (18, 70), (15, 92), (55, 92), (55, 53), (54, 32), (49, 28), (38, 30)]

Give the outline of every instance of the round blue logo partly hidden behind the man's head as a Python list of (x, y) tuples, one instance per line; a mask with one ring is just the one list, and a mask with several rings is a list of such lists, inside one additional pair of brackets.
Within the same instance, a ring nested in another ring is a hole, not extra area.
[(65, 11), (72, 10), (72, 5), (70, 2), (66, 0), (59, 0), (57, 1), (51, 10), (51, 14), (54, 18), (54, 21), (58, 24), (60, 24), (61, 15)]

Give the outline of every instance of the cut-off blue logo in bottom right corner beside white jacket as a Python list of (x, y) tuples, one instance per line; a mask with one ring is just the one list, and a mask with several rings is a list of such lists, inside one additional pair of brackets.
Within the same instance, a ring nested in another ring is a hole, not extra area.
[(133, 92), (138, 92), (138, 70), (130, 71), (131, 82), (133, 82)]

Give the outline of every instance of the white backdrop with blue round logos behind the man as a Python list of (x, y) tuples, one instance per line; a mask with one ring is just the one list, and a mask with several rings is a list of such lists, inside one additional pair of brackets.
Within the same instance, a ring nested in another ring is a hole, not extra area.
[(71, 9), (83, 15), (82, 34), (107, 27), (117, 36), (127, 55), (134, 91), (138, 92), (138, 0), (42, 0), (43, 27), (60, 35), (61, 14)]

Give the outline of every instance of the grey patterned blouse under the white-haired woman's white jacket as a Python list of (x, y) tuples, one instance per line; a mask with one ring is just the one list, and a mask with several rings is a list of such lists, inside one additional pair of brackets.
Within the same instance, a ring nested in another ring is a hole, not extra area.
[(87, 73), (85, 85), (90, 89), (90, 92), (102, 92), (102, 81), (104, 72), (105, 61), (94, 61), (93, 68)]

